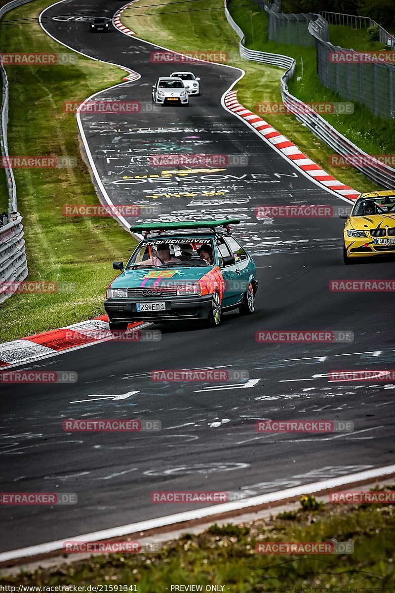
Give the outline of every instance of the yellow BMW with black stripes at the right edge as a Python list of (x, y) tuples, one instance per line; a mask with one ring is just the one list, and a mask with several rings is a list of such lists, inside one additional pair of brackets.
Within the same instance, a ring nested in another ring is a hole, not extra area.
[(362, 193), (346, 219), (343, 262), (356, 257), (395, 254), (395, 190)]

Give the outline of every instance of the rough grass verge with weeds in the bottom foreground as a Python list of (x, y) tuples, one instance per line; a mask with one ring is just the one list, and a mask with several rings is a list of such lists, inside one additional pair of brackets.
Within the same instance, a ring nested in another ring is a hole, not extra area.
[[(271, 541), (351, 541), (354, 552), (256, 553), (256, 543)], [(201, 585), (203, 591), (207, 585), (220, 585), (232, 593), (389, 593), (395, 590), (394, 549), (394, 506), (326, 505), (319, 511), (300, 509), (242, 525), (214, 524), (202, 534), (183, 535), (160, 552), (91, 556), (72, 565), (3, 576), (2, 583), (78, 585), (81, 591), (106, 584), (107, 591), (114, 591), (111, 585), (122, 584), (136, 586), (133, 590), (139, 593), (171, 593), (172, 585)]]

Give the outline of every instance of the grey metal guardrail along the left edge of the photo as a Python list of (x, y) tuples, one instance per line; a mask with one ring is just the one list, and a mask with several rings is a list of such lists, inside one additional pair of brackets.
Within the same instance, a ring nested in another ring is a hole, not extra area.
[[(31, 0), (12, 0), (0, 8), (0, 19), (12, 8), (27, 4)], [(8, 78), (4, 66), (0, 64), (2, 78), (2, 102), (0, 113), (0, 149), (4, 158), (5, 176), (8, 189), (8, 222), (0, 226), (0, 304), (11, 297), (19, 283), (27, 277), (27, 260), (23, 236), (22, 216), (18, 213), (17, 186), (14, 172), (7, 161), (9, 157), (7, 142), (8, 126)]]

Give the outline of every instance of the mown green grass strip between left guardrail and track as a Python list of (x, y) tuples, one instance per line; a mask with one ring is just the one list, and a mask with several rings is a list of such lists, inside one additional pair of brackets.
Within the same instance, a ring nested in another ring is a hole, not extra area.
[[(68, 52), (34, 17), (53, 0), (31, 2), (2, 20), (1, 52)], [(26, 24), (7, 20), (32, 19)], [(76, 291), (14, 295), (1, 307), (0, 340), (23, 337), (104, 314), (105, 289), (115, 273), (111, 262), (125, 259), (134, 241), (112, 218), (68, 218), (65, 203), (98, 204), (79, 151), (73, 114), (63, 101), (82, 101), (122, 81), (124, 72), (78, 56), (77, 65), (7, 67), (10, 85), (8, 144), (12, 155), (76, 158), (76, 167), (15, 169), (18, 209), (30, 280), (76, 283)]]

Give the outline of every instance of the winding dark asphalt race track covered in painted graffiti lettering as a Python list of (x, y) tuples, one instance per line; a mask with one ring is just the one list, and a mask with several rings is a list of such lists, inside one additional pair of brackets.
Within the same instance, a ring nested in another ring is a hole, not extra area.
[[(44, 13), (43, 25), (73, 49), (141, 74), (138, 81), (104, 91), (100, 98), (150, 105), (156, 78), (179, 65), (153, 63), (155, 47), (114, 28), (90, 34), (86, 21), (52, 20), (86, 11), (102, 15), (108, 7), (104, 1), (62, 2)], [(78, 504), (4, 509), (8, 538), (1, 551), (193, 508), (152, 504), (152, 490), (256, 495), (393, 461), (395, 384), (329, 382), (327, 374), (393, 365), (391, 293), (336, 293), (329, 290), (329, 281), (390, 279), (394, 263), (344, 266), (343, 221), (337, 217), (258, 221), (259, 205), (323, 204), (338, 212), (347, 204), (304, 177), (223, 109), (221, 96), (239, 78), (237, 69), (208, 64), (185, 69), (201, 77), (201, 96), (191, 97), (188, 109), (165, 107), (160, 113), (144, 110), (127, 117), (84, 113), (86, 139), (113, 203), (159, 206), (160, 216), (152, 218), (163, 220), (242, 220), (234, 230), (258, 267), (256, 313), (226, 314), (217, 329), (151, 326), (162, 331), (160, 342), (105, 342), (21, 366), (76, 371), (78, 382), (25, 385), (23, 390), (3, 386), (4, 490), (75, 492)], [(249, 164), (187, 175), (177, 168), (163, 176), (148, 157), (171, 152), (247, 154)], [(136, 177), (144, 175), (158, 177)], [(310, 345), (255, 340), (258, 330), (289, 329), (348, 330), (355, 339)], [(249, 381), (150, 380), (152, 369), (214, 366), (246, 369)], [(118, 400), (99, 397), (131, 392)], [(70, 434), (62, 429), (68, 418), (159, 419), (162, 431)], [(326, 435), (255, 431), (257, 419), (299, 418), (351, 420), (355, 430)]]

